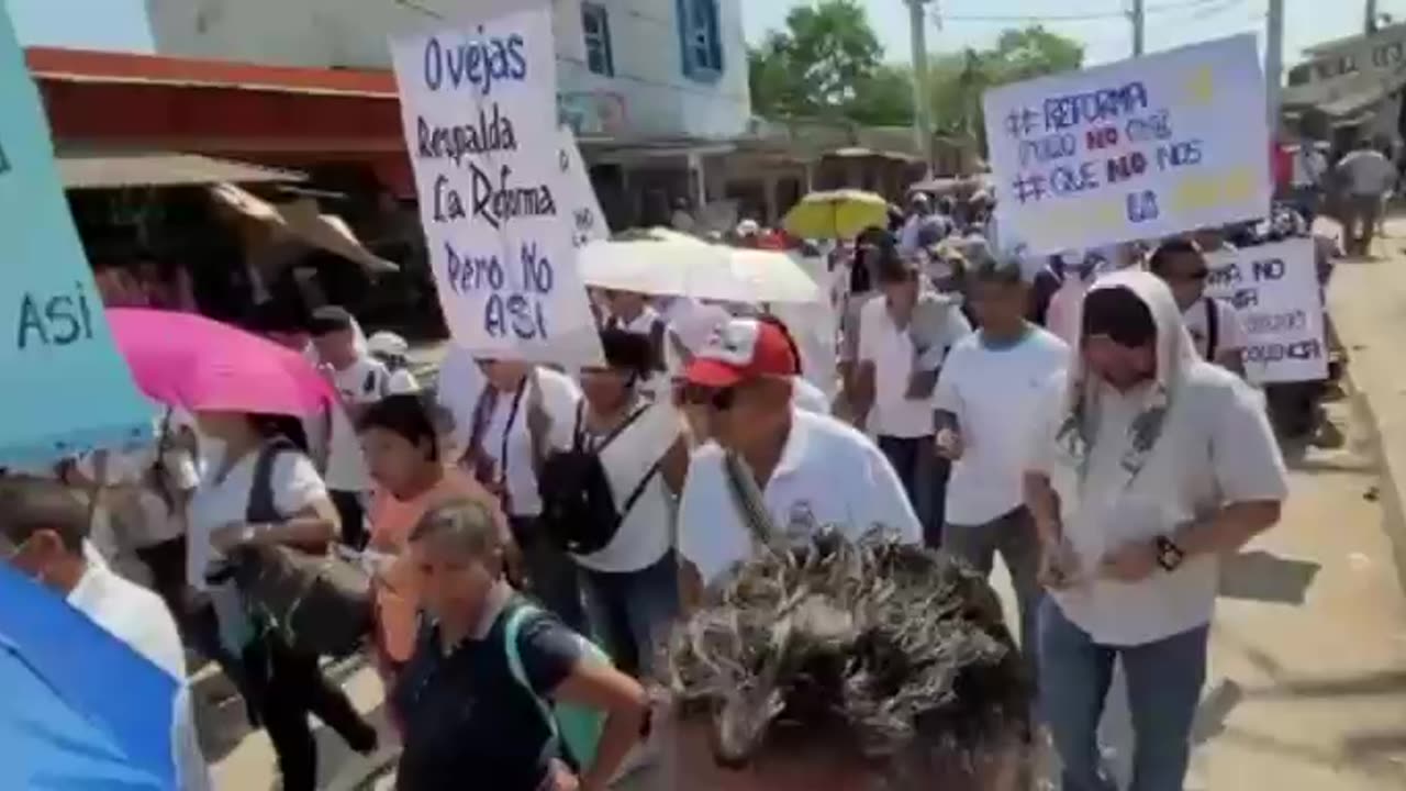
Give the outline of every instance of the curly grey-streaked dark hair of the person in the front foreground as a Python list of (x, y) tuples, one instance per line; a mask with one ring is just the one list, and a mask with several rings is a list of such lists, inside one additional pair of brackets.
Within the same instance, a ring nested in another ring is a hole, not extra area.
[(740, 564), (676, 628), (661, 666), (685, 712), (711, 715), (727, 766), (803, 733), (925, 771), (1028, 733), (1029, 684), (995, 591), (880, 531)]

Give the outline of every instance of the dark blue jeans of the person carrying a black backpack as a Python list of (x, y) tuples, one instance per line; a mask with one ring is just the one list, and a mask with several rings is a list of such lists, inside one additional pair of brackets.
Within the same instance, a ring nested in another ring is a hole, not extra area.
[(586, 615), (616, 667), (636, 677), (654, 670), (654, 654), (679, 614), (679, 567), (669, 550), (638, 571), (581, 569)]

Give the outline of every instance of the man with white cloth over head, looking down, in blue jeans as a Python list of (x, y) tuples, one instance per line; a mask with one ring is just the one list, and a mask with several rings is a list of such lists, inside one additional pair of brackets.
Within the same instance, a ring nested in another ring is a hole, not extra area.
[(1123, 663), (1132, 791), (1180, 791), (1206, 674), (1219, 559), (1288, 494), (1258, 394), (1197, 355), (1168, 287), (1099, 279), (1078, 355), (1036, 415), (1025, 497), (1045, 546), (1040, 704), (1064, 791), (1109, 791), (1097, 740)]

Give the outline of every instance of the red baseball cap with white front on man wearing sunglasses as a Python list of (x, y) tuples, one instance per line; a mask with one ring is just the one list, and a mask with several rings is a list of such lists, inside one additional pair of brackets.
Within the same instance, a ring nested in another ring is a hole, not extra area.
[(683, 370), (683, 379), (703, 387), (733, 387), (763, 376), (794, 376), (799, 370), (796, 352), (780, 327), (733, 318), (713, 331)]

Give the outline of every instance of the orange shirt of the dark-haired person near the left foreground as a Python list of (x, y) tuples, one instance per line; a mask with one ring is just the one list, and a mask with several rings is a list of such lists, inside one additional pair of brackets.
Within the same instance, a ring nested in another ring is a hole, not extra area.
[(394, 662), (406, 662), (415, 650), (415, 631), (419, 614), (419, 578), (405, 556), (411, 532), (430, 508), (449, 500), (479, 500), (492, 508), (503, 535), (508, 522), (498, 502), (471, 476), (457, 467), (446, 467), (437, 484), (412, 500), (396, 500), (388, 491), (377, 491), (371, 500), (371, 540), (375, 552), (395, 555), (396, 559), (377, 578), (377, 622), (381, 649)]

